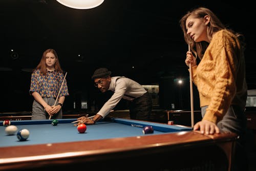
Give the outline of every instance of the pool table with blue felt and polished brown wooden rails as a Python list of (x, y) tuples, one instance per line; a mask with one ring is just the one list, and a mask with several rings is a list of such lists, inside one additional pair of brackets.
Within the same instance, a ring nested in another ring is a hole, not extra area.
[[(11, 121), (30, 136), (19, 141), (0, 127), (0, 170), (228, 170), (236, 134), (202, 135), (191, 127), (105, 118), (77, 131), (72, 121)], [(153, 134), (143, 134), (145, 125)]]

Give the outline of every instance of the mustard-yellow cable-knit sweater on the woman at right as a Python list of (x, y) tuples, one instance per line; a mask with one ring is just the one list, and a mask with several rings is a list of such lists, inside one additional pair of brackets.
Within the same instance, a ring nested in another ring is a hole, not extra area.
[(208, 105), (203, 120), (219, 122), (232, 104), (245, 108), (245, 59), (236, 35), (227, 30), (215, 33), (192, 72), (200, 106)]

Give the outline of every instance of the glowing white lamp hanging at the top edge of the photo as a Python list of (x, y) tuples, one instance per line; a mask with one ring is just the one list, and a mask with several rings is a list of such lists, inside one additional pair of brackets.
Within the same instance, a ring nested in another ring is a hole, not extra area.
[(104, 0), (56, 0), (62, 5), (74, 9), (90, 9), (98, 7)]

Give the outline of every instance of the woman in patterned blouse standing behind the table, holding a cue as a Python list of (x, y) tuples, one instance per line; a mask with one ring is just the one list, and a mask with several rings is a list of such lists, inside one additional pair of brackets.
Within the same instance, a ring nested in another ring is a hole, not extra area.
[[(66, 79), (60, 90), (63, 79), (64, 75), (56, 51), (46, 50), (31, 75), (29, 93), (34, 97), (32, 120), (48, 119), (50, 116), (52, 119), (62, 118), (62, 104), (65, 96), (69, 95)], [(54, 106), (58, 93), (57, 105)]]

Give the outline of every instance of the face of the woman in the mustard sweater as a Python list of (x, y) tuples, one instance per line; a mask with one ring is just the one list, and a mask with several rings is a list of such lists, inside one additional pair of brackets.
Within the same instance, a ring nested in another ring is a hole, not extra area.
[(195, 42), (207, 41), (207, 24), (209, 23), (209, 17), (196, 18), (194, 15), (190, 15), (186, 19), (187, 34)]

